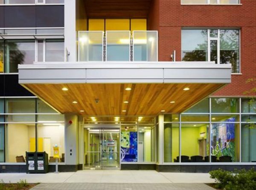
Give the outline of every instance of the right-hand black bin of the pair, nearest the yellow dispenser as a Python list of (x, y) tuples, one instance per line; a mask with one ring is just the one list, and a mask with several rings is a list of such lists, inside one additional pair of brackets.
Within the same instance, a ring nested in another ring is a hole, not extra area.
[(36, 173), (48, 173), (49, 162), (48, 154), (46, 152), (36, 152), (37, 166)]

